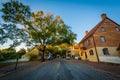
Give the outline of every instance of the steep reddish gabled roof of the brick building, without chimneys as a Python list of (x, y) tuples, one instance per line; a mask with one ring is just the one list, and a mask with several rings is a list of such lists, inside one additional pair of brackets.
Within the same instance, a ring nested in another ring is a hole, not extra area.
[(120, 26), (119, 24), (117, 24), (117, 23), (114, 22), (113, 20), (111, 20), (111, 19), (109, 19), (109, 18), (106, 17), (105, 19), (103, 19), (102, 21), (100, 21), (94, 28), (92, 28), (92, 30), (89, 31), (89, 33), (88, 33), (87, 35), (85, 35), (85, 37), (84, 37), (79, 43), (81, 43), (81, 42), (85, 41), (86, 39), (88, 39), (89, 37), (91, 37), (91, 36), (96, 32), (96, 30), (100, 27), (100, 25), (101, 25), (106, 19), (108, 19), (108, 20), (110, 20), (111, 22), (113, 22), (114, 24)]

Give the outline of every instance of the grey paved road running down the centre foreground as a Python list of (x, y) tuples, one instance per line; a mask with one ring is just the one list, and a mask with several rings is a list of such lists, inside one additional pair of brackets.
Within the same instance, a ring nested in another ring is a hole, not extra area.
[(81, 63), (53, 60), (18, 69), (0, 80), (119, 80)]

